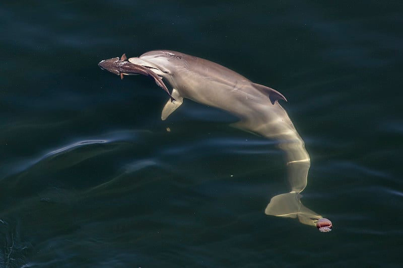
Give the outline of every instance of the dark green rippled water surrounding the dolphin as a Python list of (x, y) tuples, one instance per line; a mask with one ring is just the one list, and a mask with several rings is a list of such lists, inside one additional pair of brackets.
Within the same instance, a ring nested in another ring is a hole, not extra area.
[[(401, 1), (33, 3), (0, 4), (0, 266), (401, 264)], [(287, 97), (330, 233), (264, 214), (273, 141), (189, 100), (161, 121), (152, 80), (97, 66), (153, 49)]]

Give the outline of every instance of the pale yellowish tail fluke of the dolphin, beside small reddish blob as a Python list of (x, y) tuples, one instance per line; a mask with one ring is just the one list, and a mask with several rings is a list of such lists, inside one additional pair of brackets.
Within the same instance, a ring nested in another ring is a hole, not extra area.
[(264, 213), (278, 217), (298, 217), (301, 223), (316, 226), (322, 216), (302, 205), (300, 198), (298, 192), (277, 195), (270, 200)]

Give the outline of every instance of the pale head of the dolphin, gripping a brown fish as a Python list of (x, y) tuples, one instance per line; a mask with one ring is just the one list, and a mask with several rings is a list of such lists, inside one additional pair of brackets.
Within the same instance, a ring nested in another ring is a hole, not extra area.
[(144, 53), (140, 57), (129, 58), (128, 61), (150, 68), (153, 72), (163, 77), (172, 75), (180, 67), (186, 68), (185, 55), (170, 50), (153, 50)]

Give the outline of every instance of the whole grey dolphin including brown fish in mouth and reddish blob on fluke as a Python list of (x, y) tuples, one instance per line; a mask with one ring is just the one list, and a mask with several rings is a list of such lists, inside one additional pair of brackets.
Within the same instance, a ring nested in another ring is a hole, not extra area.
[(161, 119), (165, 120), (180, 107), (183, 99), (224, 110), (239, 118), (233, 124), (242, 130), (275, 139), (284, 151), (290, 192), (273, 197), (265, 214), (298, 218), (303, 224), (316, 226), (321, 232), (331, 230), (329, 220), (306, 208), (300, 193), (307, 185), (310, 158), (279, 100), (286, 98), (273, 88), (254, 83), (244, 76), (212, 61), (184, 53), (155, 50), (140, 57), (112, 58), (98, 64), (102, 69), (123, 75), (151, 76), (165, 91), (163, 77), (171, 86), (170, 100)]

